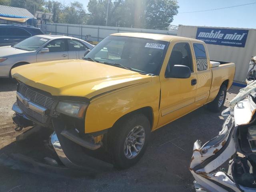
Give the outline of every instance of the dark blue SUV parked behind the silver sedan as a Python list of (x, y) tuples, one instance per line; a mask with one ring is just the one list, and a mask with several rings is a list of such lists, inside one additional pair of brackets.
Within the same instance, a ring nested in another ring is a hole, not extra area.
[(0, 24), (0, 46), (14, 45), (34, 35), (42, 35), (40, 28), (18, 24)]

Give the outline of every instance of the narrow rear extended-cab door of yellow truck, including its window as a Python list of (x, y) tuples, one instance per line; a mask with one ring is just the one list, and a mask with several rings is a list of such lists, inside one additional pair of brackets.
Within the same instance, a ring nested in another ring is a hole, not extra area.
[(194, 58), (196, 59), (197, 89), (196, 106), (200, 107), (206, 103), (210, 94), (212, 84), (212, 72), (210, 70), (210, 59), (204, 44), (192, 42)]

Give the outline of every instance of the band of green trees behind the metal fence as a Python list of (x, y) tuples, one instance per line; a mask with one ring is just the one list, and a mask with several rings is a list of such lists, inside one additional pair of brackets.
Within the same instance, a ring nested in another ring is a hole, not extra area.
[(51, 12), (56, 23), (89, 25), (106, 25), (108, 6), (108, 26), (150, 29), (167, 29), (179, 8), (176, 0), (90, 0), (87, 14), (78, 1), (68, 6), (58, 0), (0, 0), (0, 4), (26, 8), (32, 14)]

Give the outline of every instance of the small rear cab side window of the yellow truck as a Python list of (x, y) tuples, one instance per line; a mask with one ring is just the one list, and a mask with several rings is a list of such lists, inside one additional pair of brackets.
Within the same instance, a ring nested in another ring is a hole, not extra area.
[(196, 68), (197, 71), (204, 71), (208, 68), (206, 50), (203, 44), (194, 43), (194, 52), (196, 56)]

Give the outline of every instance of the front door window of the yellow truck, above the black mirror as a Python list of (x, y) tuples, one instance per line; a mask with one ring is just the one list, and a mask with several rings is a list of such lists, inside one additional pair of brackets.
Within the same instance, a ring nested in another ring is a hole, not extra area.
[(193, 71), (191, 50), (188, 43), (176, 43), (174, 45), (166, 68), (166, 73), (170, 73), (174, 65), (188, 66), (190, 71)]

